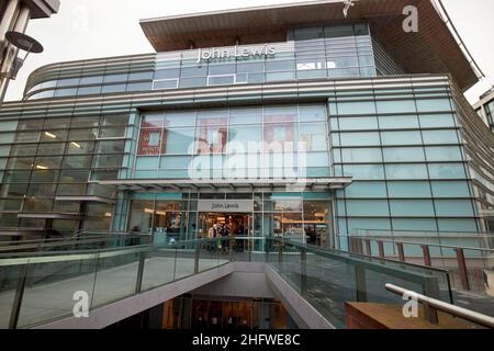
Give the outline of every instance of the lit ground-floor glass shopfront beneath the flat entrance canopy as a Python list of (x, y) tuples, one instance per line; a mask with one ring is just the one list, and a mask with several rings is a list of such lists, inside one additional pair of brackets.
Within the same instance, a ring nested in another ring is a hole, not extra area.
[[(251, 211), (201, 211), (201, 202), (211, 200), (248, 202)], [(229, 224), (236, 236), (277, 236), (319, 246), (329, 246), (334, 233), (330, 195), (308, 192), (136, 193), (128, 222), (134, 233), (151, 233), (155, 242), (205, 238), (215, 223)], [(240, 231), (238, 222), (244, 224)]]

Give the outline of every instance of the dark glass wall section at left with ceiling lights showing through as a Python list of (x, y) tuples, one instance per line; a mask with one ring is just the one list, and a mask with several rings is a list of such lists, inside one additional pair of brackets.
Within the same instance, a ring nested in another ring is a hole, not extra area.
[(85, 204), (77, 199), (114, 197), (114, 190), (96, 181), (122, 172), (128, 120), (127, 114), (106, 114), (2, 122), (2, 226), (45, 228), (42, 215), (18, 218), (18, 213), (57, 213), (75, 218), (82, 214), (85, 220), (55, 219), (53, 229), (108, 230), (112, 204)]

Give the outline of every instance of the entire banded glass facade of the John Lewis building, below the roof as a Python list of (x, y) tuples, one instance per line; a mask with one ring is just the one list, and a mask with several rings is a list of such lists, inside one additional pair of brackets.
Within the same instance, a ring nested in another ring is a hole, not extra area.
[[(293, 29), (287, 42), (248, 48), (34, 72), (27, 99), (88, 98), (2, 106), (0, 227), (137, 231), (164, 242), (203, 237), (232, 218), (244, 235), (344, 249), (338, 236), (358, 229), (490, 228), (481, 212), (494, 208), (494, 147), (475, 139), (448, 77), (401, 77), (366, 23)], [(114, 94), (134, 91), (143, 93)], [(291, 177), (351, 183), (214, 191), (215, 181)], [(172, 193), (159, 185), (195, 179), (213, 185)], [(211, 200), (249, 210), (201, 210)]]

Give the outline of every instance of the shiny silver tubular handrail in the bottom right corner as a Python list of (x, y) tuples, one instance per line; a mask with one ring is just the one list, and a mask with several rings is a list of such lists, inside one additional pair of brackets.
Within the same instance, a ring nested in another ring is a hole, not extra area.
[(494, 329), (494, 318), (463, 308), (463, 307), (459, 307), (459, 306), (454, 306), (448, 303), (445, 303), (442, 301), (436, 299), (436, 298), (431, 298), (428, 297), (426, 295), (422, 295), (418, 294), (414, 291), (409, 291), (393, 284), (386, 284), (385, 285), (386, 290), (396, 294), (396, 295), (402, 295), (404, 296), (405, 294), (408, 295), (409, 297), (416, 299), (417, 302), (423, 303), (424, 305), (428, 306), (428, 307), (433, 307), (439, 310), (442, 310), (449, 315), (456, 316), (456, 317), (460, 317), (462, 319), (472, 321), (476, 325), (483, 326), (483, 327), (487, 327), (491, 329)]

